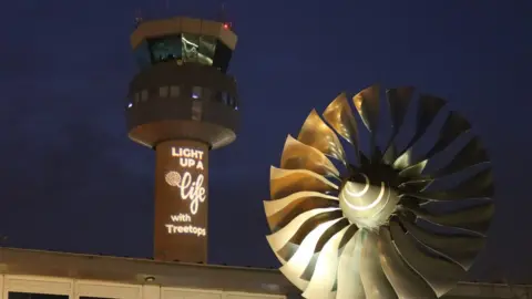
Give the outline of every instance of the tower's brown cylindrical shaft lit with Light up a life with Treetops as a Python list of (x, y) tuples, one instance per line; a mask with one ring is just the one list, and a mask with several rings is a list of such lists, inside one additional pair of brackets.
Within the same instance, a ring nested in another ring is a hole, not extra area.
[(208, 146), (167, 141), (155, 152), (154, 258), (206, 262)]

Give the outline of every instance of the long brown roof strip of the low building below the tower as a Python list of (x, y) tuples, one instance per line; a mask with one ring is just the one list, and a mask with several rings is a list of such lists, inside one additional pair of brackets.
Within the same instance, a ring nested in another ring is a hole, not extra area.
[[(0, 274), (269, 295), (297, 293), (277, 270), (0, 248)], [(154, 278), (153, 281), (149, 281)]]

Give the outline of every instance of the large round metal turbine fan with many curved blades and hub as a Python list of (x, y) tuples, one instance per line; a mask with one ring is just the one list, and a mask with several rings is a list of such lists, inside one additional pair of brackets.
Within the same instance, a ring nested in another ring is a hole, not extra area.
[[(267, 240), (280, 271), (305, 298), (439, 298), (464, 278), (483, 247), (494, 193), (488, 154), (473, 136), (446, 166), (424, 174), (427, 163), (471, 127), (449, 112), (434, 145), (413, 159), (412, 146), (446, 104), (430, 95), (419, 97), (416, 132), (397, 152), (413, 91), (386, 91), (392, 125), (383, 153), (376, 145), (377, 85), (352, 97), (371, 136), (370, 154), (359, 150), (345, 93), (325, 110), (325, 122), (313, 111), (297, 140), (288, 135), (280, 168), (270, 171), (272, 200), (264, 203)], [(347, 162), (338, 135), (352, 146), (357, 165)], [(429, 189), (433, 181), (479, 164), (488, 167), (457, 186)], [(442, 209), (449, 206), (454, 208)]]

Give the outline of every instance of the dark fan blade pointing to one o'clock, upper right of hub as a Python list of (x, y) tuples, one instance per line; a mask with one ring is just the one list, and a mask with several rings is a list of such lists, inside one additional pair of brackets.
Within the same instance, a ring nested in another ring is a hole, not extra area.
[[(402, 153), (411, 150), (411, 147), (421, 138), (421, 136), (427, 132), (427, 128), (432, 124), (436, 118), (436, 115), (440, 110), (446, 105), (446, 101), (436, 97), (432, 95), (423, 94), (419, 97), (418, 113), (416, 115), (416, 134), (408, 143), (407, 147)], [(399, 155), (401, 158), (402, 154)]]

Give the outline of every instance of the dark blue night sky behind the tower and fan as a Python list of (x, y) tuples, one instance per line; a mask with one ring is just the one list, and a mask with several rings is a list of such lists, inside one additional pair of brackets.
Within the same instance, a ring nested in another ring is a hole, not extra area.
[[(170, 1), (166, 13), (214, 18), (218, 7)], [(129, 141), (123, 113), (136, 9), (163, 14), (165, 0), (2, 3), (4, 246), (151, 256), (155, 155)], [(380, 82), (442, 96), (471, 121), (498, 203), (471, 279), (532, 281), (532, 2), (233, 0), (227, 14), (243, 127), (211, 154), (211, 262), (278, 266), (263, 199), (286, 134), (339, 92)]]

